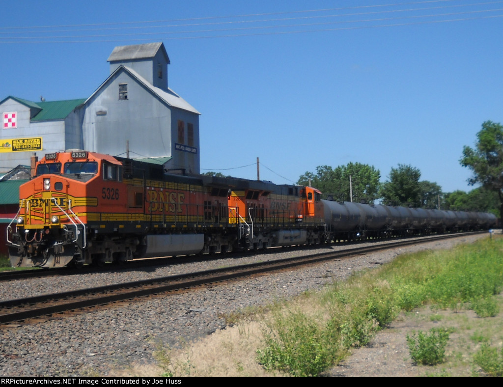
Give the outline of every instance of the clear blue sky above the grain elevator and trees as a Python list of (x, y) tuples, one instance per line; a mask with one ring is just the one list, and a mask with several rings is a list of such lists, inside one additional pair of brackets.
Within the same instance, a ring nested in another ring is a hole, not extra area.
[[(3, 2), (0, 100), (87, 98), (115, 46), (163, 42), (200, 117), (201, 170), (294, 183), (360, 162), (469, 191), (503, 123), (503, 1)], [(130, 145), (131, 150), (134, 151)]]

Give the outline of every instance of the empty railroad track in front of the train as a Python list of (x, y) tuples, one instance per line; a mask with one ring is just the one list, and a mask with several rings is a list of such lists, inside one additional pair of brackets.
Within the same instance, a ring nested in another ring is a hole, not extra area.
[(12, 323), (30, 323), (33, 319), (44, 317), (64, 317), (65, 312), (80, 311), (85, 313), (88, 308), (108, 306), (118, 302), (131, 302), (156, 294), (180, 292), (197, 286), (211, 283), (222, 283), (243, 277), (261, 275), (267, 272), (291, 269), (293, 267), (312, 265), (318, 262), (349, 258), (354, 255), (368, 254), (371, 252), (397, 248), (413, 244), (427, 243), (431, 241), (472, 235), (448, 234), (435, 237), (427, 237), (415, 240), (400, 240), (379, 244), (375, 246), (354, 247), (329, 253), (318, 253), (294, 258), (250, 263), (227, 268), (199, 271), (188, 274), (160, 277), (135, 282), (120, 283), (100, 286), (78, 291), (57, 293), (51, 295), (30, 297), (0, 302), (0, 325), (4, 327)]

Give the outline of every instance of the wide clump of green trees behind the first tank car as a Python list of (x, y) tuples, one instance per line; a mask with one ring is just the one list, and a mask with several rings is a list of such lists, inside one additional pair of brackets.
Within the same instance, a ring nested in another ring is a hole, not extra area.
[(335, 169), (327, 165), (317, 166), (316, 174), (304, 173), (299, 177), (297, 184), (310, 183), (311, 186), (338, 201), (351, 201), (352, 190), (353, 201), (373, 202), (378, 198), (380, 178), (381, 173), (373, 166), (350, 162)]

